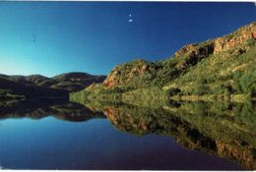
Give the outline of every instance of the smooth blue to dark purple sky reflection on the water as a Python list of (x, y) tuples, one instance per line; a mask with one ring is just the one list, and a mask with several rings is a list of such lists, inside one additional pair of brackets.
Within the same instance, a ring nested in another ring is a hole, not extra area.
[(52, 117), (0, 121), (0, 165), (19, 169), (239, 169), (173, 139), (137, 137), (106, 119), (73, 123)]

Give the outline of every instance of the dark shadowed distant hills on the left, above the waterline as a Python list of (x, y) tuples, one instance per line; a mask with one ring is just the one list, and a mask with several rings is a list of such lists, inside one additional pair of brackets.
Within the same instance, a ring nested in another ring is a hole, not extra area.
[(93, 76), (87, 73), (66, 73), (53, 78), (40, 75), (0, 75), (0, 99), (1, 97), (17, 98), (15, 95), (68, 97), (70, 91), (81, 90), (104, 79), (105, 76)]

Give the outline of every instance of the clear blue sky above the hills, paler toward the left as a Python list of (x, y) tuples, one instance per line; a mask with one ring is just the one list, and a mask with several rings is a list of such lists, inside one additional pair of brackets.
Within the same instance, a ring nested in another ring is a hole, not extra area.
[(1, 1), (0, 73), (106, 75), (253, 21), (254, 3)]

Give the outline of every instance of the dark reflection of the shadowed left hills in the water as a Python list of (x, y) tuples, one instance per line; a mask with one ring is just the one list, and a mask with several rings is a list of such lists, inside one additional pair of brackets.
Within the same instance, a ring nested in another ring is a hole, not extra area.
[(66, 99), (31, 99), (0, 105), (0, 119), (40, 119), (47, 116), (75, 122), (104, 118), (102, 112), (94, 112), (84, 105), (71, 103)]

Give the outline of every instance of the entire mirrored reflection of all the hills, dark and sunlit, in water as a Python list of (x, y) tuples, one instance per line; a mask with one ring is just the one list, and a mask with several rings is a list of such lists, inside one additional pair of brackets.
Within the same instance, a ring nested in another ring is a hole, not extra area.
[(62, 99), (37, 99), (0, 105), (0, 118), (40, 119), (50, 115), (61, 120), (87, 121), (106, 116), (120, 131), (172, 137), (184, 147), (234, 159), (246, 169), (256, 169), (255, 108), (253, 103), (176, 101), (156, 108), (120, 102), (89, 102), (85, 107)]

